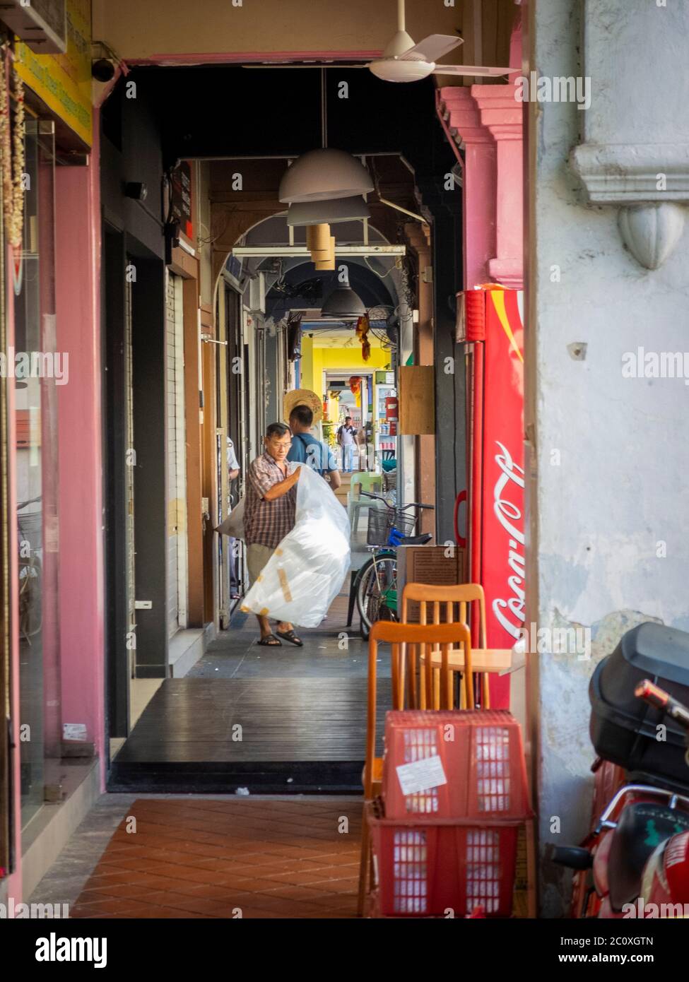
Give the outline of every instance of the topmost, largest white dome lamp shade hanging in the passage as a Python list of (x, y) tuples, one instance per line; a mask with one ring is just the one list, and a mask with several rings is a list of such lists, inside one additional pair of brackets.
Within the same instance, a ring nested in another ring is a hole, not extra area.
[(309, 150), (287, 168), (278, 198), (286, 204), (296, 201), (326, 201), (330, 198), (354, 197), (373, 191), (373, 181), (366, 167), (344, 150), (323, 147)]

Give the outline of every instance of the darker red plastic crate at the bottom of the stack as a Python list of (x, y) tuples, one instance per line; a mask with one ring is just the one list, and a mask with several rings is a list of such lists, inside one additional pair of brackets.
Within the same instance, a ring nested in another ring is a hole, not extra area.
[(381, 810), (367, 804), (375, 913), (466, 917), (482, 906), (487, 917), (511, 915), (519, 821), (405, 821), (382, 818)]

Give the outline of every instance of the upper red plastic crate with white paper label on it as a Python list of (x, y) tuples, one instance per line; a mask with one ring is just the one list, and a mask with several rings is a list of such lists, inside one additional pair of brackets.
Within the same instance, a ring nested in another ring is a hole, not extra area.
[[(405, 793), (404, 765), (410, 787), (431, 784), (433, 772), (444, 783)], [(532, 812), (519, 724), (504, 709), (391, 711), (381, 793), (388, 819), (524, 820)]]

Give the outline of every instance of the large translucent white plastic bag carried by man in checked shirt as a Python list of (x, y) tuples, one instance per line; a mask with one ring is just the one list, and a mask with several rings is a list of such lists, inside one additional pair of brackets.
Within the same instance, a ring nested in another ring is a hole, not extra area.
[(300, 466), (294, 528), (261, 570), (242, 610), (317, 627), (349, 572), (349, 518), (329, 484), (308, 464)]

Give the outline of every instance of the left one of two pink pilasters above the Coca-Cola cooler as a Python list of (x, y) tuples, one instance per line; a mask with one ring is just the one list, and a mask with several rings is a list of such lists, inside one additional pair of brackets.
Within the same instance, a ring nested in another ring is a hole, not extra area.
[(441, 88), (440, 99), (450, 132), (464, 149), (464, 284), (471, 289), (488, 282), (488, 263), (496, 249), (495, 140), (468, 88)]

